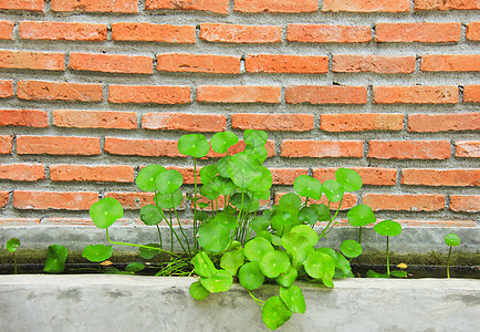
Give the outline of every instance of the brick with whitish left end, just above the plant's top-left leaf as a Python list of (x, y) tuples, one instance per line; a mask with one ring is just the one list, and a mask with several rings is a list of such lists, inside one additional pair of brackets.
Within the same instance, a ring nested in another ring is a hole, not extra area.
[(147, 113), (142, 120), (145, 129), (182, 132), (223, 132), (227, 116), (220, 114)]

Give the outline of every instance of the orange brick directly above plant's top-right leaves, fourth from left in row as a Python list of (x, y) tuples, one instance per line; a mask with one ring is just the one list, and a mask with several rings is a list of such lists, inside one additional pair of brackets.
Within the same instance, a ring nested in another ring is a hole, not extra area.
[(231, 127), (239, 129), (307, 132), (313, 129), (312, 114), (252, 114), (231, 115)]

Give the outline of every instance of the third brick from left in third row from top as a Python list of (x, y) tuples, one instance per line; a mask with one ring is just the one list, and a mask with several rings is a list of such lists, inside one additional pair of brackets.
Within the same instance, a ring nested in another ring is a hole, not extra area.
[(158, 54), (157, 70), (211, 74), (240, 74), (240, 56), (210, 54)]

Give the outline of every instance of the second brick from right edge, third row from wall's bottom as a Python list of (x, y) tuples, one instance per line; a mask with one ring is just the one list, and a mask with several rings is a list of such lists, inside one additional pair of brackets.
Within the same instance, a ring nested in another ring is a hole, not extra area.
[(368, 158), (376, 159), (448, 159), (448, 141), (371, 141)]

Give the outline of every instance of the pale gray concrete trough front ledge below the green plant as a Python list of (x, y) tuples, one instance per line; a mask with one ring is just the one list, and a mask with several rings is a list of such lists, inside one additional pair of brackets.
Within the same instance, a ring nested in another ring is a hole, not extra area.
[[(205, 301), (194, 278), (0, 276), (1, 331), (268, 331), (238, 284)], [(480, 281), (337, 280), (301, 284), (306, 313), (278, 331), (478, 331)], [(258, 298), (276, 294), (263, 287)]]

